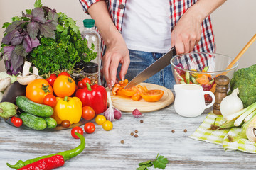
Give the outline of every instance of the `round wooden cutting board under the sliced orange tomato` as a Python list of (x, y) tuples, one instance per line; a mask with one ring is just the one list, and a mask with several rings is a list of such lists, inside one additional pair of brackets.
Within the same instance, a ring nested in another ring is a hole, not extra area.
[(156, 84), (147, 84), (147, 83), (141, 83), (139, 84), (141, 86), (146, 86), (147, 89), (153, 90), (153, 89), (159, 89), (164, 91), (164, 96), (156, 102), (148, 102), (145, 101), (143, 98), (141, 98), (139, 101), (133, 101), (132, 98), (124, 98), (122, 96), (114, 96), (112, 94), (112, 91), (110, 91), (112, 104), (114, 108), (118, 108), (120, 111), (124, 112), (132, 112), (135, 108), (137, 108), (140, 112), (151, 112), (151, 111), (157, 111), (161, 108), (164, 108), (166, 106), (169, 106), (171, 103), (174, 102), (174, 94), (171, 92), (171, 90), (167, 89), (164, 86), (159, 86)]

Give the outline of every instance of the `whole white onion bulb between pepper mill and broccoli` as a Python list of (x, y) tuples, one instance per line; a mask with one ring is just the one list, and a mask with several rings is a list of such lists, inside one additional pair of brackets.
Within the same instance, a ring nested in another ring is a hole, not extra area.
[(238, 94), (239, 89), (234, 89), (232, 94), (225, 96), (220, 102), (220, 113), (223, 115), (223, 118), (243, 109), (243, 104)]

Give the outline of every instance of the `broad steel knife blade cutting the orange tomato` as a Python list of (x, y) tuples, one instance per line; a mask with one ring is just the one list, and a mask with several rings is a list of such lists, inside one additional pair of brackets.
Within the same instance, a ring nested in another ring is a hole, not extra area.
[(152, 63), (149, 67), (146, 67), (146, 69), (144, 69), (136, 77), (129, 81), (129, 83), (127, 84), (127, 86), (124, 87), (124, 89), (136, 86), (137, 84), (142, 83), (146, 79), (149, 79), (149, 77), (153, 76), (161, 69), (164, 69), (164, 67), (170, 64), (170, 60), (174, 55), (176, 55), (176, 49), (175, 47), (172, 47), (169, 52), (167, 52), (165, 55), (163, 55), (154, 63)]

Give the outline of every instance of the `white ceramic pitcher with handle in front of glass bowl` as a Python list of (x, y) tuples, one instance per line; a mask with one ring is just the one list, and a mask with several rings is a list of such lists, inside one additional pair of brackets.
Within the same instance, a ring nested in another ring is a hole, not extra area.
[[(206, 108), (215, 103), (215, 96), (211, 91), (203, 91), (198, 84), (175, 84), (174, 109), (176, 113), (184, 117), (196, 117), (201, 115)], [(209, 94), (213, 101), (206, 105), (204, 95)]]

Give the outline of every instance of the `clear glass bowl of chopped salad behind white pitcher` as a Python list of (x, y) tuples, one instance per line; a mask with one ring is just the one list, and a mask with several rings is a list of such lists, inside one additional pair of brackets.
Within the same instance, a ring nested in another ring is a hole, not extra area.
[[(226, 70), (232, 61), (233, 58), (227, 55), (191, 52), (174, 56), (171, 59), (171, 71), (176, 84), (199, 84), (204, 91), (210, 91), (218, 75), (225, 75), (229, 79), (233, 77), (238, 69), (238, 62)], [(212, 92), (215, 91), (212, 89)], [(206, 103), (211, 102), (210, 95), (205, 96), (205, 99)]]

